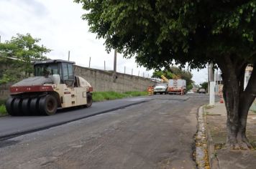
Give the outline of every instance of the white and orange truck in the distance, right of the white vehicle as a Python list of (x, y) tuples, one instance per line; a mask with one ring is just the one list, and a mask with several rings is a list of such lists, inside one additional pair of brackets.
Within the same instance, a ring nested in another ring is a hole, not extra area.
[(186, 80), (185, 79), (169, 79), (168, 94), (186, 94)]

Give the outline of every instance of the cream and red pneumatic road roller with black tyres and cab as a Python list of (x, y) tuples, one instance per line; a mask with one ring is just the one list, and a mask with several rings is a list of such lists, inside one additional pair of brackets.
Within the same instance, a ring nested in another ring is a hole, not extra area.
[(93, 87), (73, 74), (74, 64), (60, 59), (35, 62), (35, 77), (10, 87), (9, 115), (54, 115), (58, 108), (91, 107)]

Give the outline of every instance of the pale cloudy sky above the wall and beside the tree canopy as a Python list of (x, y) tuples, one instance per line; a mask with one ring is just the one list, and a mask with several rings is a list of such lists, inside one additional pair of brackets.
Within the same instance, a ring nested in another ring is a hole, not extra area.
[[(106, 70), (114, 67), (114, 51), (109, 54), (104, 47), (104, 39), (96, 39), (96, 34), (88, 32), (87, 21), (81, 19), (85, 11), (81, 4), (73, 0), (0, 0), (1, 42), (19, 34), (31, 34), (40, 38), (40, 44), (52, 49), (47, 54), (50, 59), (68, 59), (82, 67)], [(135, 59), (124, 59), (117, 55), (117, 72), (151, 77), (153, 70), (137, 67)], [(133, 69), (133, 71), (132, 71)], [(196, 84), (207, 81), (207, 70), (192, 70)]]

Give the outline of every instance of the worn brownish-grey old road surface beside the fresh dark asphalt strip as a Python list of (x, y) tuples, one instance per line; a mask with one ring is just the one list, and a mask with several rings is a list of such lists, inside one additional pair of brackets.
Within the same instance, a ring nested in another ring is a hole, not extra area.
[(196, 114), (207, 100), (197, 94), (156, 95), (138, 105), (2, 140), (0, 168), (196, 168)]

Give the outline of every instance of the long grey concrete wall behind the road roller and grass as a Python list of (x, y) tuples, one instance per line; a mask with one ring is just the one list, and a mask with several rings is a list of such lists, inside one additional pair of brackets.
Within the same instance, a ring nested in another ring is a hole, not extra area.
[[(76, 75), (86, 79), (92, 85), (94, 92), (145, 91), (148, 86), (154, 84), (150, 79), (121, 73), (117, 73), (117, 79), (114, 83), (112, 80), (112, 72), (86, 67), (75, 66), (74, 72)], [(0, 85), (0, 100), (6, 100), (6, 98), (9, 97), (10, 85), (11, 84)]]

